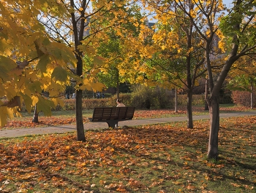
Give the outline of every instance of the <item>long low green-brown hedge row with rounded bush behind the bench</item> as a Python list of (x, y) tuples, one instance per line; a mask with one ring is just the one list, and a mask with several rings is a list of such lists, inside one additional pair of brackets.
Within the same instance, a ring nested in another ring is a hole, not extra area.
[[(244, 94), (243, 94), (244, 95)], [(204, 95), (193, 95), (192, 105), (204, 105), (205, 100)], [(174, 93), (162, 91), (157, 92), (134, 92), (127, 94), (120, 94), (120, 99), (122, 103), (126, 106), (135, 106), (136, 109), (174, 109)], [(63, 99), (64, 106), (56, 106), (53, 111), (60, 110), (75, 110), (75, 99)], [(187, 105), (187, 95), (178, 95), (178, 106)], [(247, 105), (247, 103), (245, 104)], [(95, 107), (102, 106), (116, 106), (116, 96), (111, 98), (83, 98), (82, 99), (82, 109), (94, 109)], [(248, 105), (247, 105), (248, 106)], [(26, 107), (22, 106), (21, 111), (26, 111)], [(33, 110), (33, 109), (32, 109)]]

